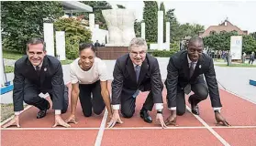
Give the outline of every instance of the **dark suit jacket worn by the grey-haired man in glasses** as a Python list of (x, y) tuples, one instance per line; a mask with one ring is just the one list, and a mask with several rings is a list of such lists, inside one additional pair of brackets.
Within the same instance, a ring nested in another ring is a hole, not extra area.
[(154, 103), (162, 103), (163, 85), (158, 60), (155, 57), (146, 55), (140, 68), (138, 83), (133, 63), (128, 54), (117, 58), (113, 77), (112, 104), (120, 104), (121, 96), (131, 97), (137, 89), (152, 91)]

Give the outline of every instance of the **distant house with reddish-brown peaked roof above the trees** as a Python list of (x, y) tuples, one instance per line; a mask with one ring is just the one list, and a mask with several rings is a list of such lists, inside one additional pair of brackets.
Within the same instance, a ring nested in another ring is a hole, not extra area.
[(224, 32), (237, 32), (238, 35), (248, 35), (247, 30), (241, 30), (238, 26), (232, 25), (228, 19), (218, 26), (209, 26), (205, 32), (199, 32), (199, 36), (205, 37), (214, 34), (224, 33)]

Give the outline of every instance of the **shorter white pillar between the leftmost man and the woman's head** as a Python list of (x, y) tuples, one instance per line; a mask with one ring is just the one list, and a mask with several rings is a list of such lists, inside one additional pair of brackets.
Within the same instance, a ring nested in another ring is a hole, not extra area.
[(56, 54), (60, 60), (66, 59), (65, 32), (56, 31)]

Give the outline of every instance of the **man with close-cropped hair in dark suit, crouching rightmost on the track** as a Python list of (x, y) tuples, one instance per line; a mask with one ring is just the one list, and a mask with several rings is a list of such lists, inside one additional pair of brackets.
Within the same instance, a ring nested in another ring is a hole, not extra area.
[[(165, 81), (167, 89), (168, 108), (171, 116), (165, 121), (166, 125), (176, 122), (176, 115), (185, 112), (184, 93), (194, 92), (188, 99), (192, 112), (199, 115), (198, 103), (207, 98), (208, 93), (215, 112), (217, 123), (228, 125), (228, 122), (220, 115), (222, 107), (213, 59), (203, 53), (204, 43), (199, 36), (192, 37), (188, 42), (188, 49), (180, 51), (170, 57)], [(203, 75), (205, 75), (206, 82)]]

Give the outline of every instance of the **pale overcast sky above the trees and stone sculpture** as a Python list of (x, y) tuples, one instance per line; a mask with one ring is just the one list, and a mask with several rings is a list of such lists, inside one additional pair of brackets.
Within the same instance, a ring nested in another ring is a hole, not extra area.
[[(256, 32), (256, 1), (158, 1), (165, 5), (165, 11), (175, 9), (179, 23), (197, 23), (217, 26), (226, 18), (228, 21), (249, 33)], [(143, 18), (143, 1), (108, 1), (112, 6), (124, 5), (135, 12), (137, 19)]]

